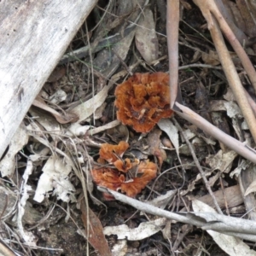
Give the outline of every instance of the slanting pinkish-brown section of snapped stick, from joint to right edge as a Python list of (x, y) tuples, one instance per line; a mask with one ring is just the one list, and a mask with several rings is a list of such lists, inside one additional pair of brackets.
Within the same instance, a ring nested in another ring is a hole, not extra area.
[(199, 114), (195, 113), (191, 109), (184, 107), (182, 104), (175, 102), (177, 108), (182, 112), (176, 112), (183, 119), (188, 120), (190, 123), (196, 125), (201, 130), (206, 131), (207, 134), (215, 137), (220, 142), (224, 143), (227, 147), (236, 151), (237, 154), (241, 154), (247, 160), (256, 164), (256, 151), (253, 148), (247, 147), (246, 144), (237, 141), (234, 137), (230, 137), (224, 131), (219, 130), (217, 127), (209, 123), (206, 119), (203, 119)]

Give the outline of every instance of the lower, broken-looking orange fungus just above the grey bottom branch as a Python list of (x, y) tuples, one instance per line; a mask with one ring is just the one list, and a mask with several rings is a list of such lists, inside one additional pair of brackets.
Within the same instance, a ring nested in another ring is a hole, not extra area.
[[(115, 168), (108, 166), (96, 167), (91, 171), (94, 182), (108, 189), (120, 190), (126, 195), (134, 197), (146, 187), (146, 185), (156, 177), (157, 166), (149, 160), (122, 159), (125, 150), (129, 147), (128, 143), (120, 142), (119, 145), (102, 144), (100, 158), (98, 162), (102, 165), (112, 163)], [(128, 177), (127, 172), (137, 168), (138, 177)], [(103, 194), (106, 200), (113, 200), (111, 195)]]

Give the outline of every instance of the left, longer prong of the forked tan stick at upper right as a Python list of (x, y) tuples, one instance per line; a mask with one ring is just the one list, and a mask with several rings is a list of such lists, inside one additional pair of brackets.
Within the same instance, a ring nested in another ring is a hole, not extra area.
[(217, 21), (212, 17), (213, 26), (210, 28), (212, 40), (218, 52), (219, 61), (224, 68), (224, 73), (230, 84), (230, 88), (233, 91), (236, 102), (241, 108), (241, 113), (247, 121), (247, 125), (252, 133), (254, 142), (256, 142), (256, 119), (253, 114), (253, 110), (248, 102), (247, 96), (244, 92), (241, 80), (236, 72), (236, 67), (230, 57), (230, 53), (224, 43), (224, 38), (220, 32)]

